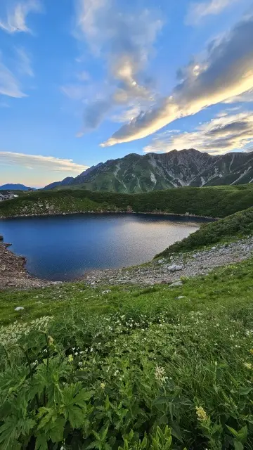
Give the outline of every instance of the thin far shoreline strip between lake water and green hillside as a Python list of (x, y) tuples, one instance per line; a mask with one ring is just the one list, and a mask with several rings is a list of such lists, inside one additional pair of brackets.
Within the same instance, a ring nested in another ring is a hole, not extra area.
[(18, 219), (19, 217), (50, 217), (50, 216), (67, 216), (73, 214), (152, 214), (157, 216), (169, 217), (189, 217), (189, 219), (207, 219), (209, 221), (219, 220), (220, 217), (198, 216), (197, 214), (176, 214), (174, 212), (164, 211), (150, 211), (150, 212), (136, 212), (136, 211), (74, 211), (74, 212), (41, 212), (41, 214), (16, 214), (13, 216), (0, 216), (1, 220)]

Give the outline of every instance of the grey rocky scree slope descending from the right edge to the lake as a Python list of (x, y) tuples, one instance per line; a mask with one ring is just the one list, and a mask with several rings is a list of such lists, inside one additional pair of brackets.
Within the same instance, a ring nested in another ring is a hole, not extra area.
[(179, 283), (181, 277), (207, 275), (215, 267), (226, 266), (253, 255), (253, 237), (208, 250), (179, 253), (169, 259), (158, 259), (143, 266), (86, 272), (82, 280), (89, 285), (154, 285)]

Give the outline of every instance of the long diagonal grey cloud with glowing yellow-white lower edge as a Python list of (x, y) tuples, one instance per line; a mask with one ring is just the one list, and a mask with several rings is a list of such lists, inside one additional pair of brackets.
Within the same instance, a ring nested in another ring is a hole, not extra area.
[(213, 41), (204, 60), (182, 71), (183, 79), (170, 96), (123, 125), (102, 146), (141, 139), (180, 117), (253, 89), (252, 40), (253, 17), (249, 16)]

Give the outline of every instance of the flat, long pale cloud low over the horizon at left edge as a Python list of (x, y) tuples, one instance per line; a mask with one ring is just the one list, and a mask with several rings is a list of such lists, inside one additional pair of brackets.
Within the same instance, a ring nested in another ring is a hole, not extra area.
[[(0, 151), (0, 165), (11, 165), (26, 169), (39, 169), (46, 172), (67, 172), (69, 175), (77, 175), (88, 169), (88, 166), (77, 164), (73, 160), (55, 158), (54, 156), (27, 155)], [(64, 176), (67, 176), (64, 175)]]

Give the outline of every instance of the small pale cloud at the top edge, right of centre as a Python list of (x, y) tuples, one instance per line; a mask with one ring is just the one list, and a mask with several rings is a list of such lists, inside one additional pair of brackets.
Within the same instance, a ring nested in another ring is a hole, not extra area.
[(195, 25), (207, 15), (220, 14), (225, 8), (239, 0), (209, 0), (190, 3), (186, 15), (186, 24)]

